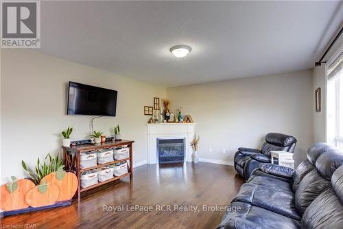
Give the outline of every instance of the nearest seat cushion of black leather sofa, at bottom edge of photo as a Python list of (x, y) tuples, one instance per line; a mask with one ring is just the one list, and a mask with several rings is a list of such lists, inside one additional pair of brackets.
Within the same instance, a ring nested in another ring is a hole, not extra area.
[[(217, 228), (300, 228), (300, 221), (285, 217), (270, 210), (236, 201), (230, 204), (222, 223)], [(232, 209), (235, 209), (233, 212)]]

